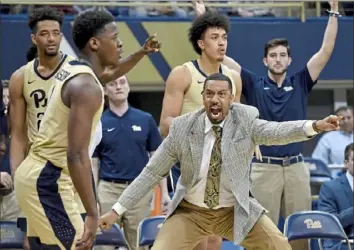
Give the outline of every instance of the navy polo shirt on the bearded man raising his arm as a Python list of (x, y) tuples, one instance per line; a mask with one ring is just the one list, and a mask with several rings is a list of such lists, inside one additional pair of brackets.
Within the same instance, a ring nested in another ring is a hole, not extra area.
[[(312, 81), (307, 67), (285, 78), (279, 88), (269, 76), (257, 76), (242, 68), (242, 94), (249, 105), (259, 110), (259, 118), (267, 121), (306, 120), (307, 100)], [(302, 152), (302, 143), (283, 146), (260, 146), (262, 155), (270, 157), (295, 156)]]

